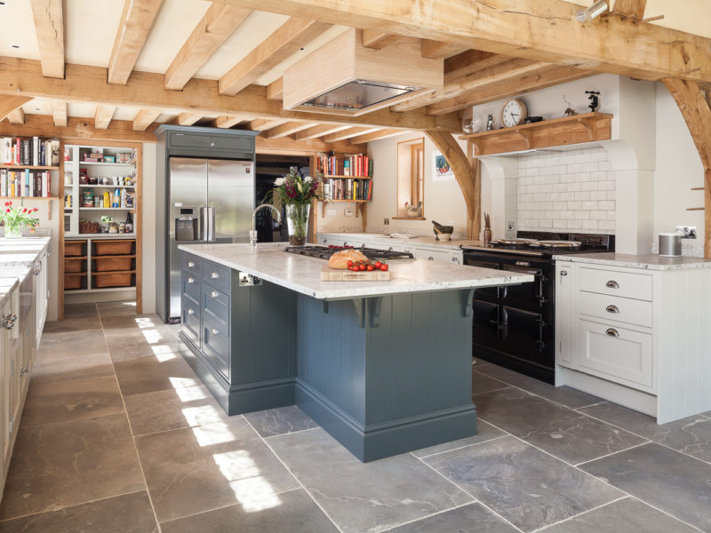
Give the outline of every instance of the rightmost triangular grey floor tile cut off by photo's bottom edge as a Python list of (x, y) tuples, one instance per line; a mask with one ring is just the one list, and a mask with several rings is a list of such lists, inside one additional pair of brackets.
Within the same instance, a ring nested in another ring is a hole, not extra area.
[(582, 513), (540, 533), (698, 533), (649, 505), (627, 497)]

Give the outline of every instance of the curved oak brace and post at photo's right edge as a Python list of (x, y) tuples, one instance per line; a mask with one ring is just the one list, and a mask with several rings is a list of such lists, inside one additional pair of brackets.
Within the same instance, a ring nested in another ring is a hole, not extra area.
[(695, 82), (662, 80), (682, 112), (704, 166), (704, 256), (711, 259), (711, 106)]

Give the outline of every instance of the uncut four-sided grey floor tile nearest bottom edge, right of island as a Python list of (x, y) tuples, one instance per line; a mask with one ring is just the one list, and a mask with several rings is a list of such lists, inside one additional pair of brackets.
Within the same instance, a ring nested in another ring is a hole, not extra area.
[(603, 505), (622, 493), (514, 437), (423, 459), (524, 531)]

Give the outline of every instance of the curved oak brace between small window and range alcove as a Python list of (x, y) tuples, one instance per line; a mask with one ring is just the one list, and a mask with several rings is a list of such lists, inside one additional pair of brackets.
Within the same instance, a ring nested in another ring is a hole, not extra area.
[(435, 147), (450, 163), (454, 177), (459, 183), (464, 201), (467, 203), (467, 216), (470, 223), (467, 225), (467, 238), (477, 238), (481, 228), (482, 195), (481, 195), (481, 169), (480, 163), (474, 157), (467, 158), (464, 150), (459, 146), (451, 133), (446, 131), (425, 131), (427, 137), (435, 143)]

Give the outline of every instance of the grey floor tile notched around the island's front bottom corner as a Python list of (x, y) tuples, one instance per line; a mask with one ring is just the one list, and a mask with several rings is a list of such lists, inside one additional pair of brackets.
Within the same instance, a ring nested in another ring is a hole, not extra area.
[(382, 531), (472, 501), (410, 454), (361, 463), (321, 428), (268, 442), (345, 533)]

